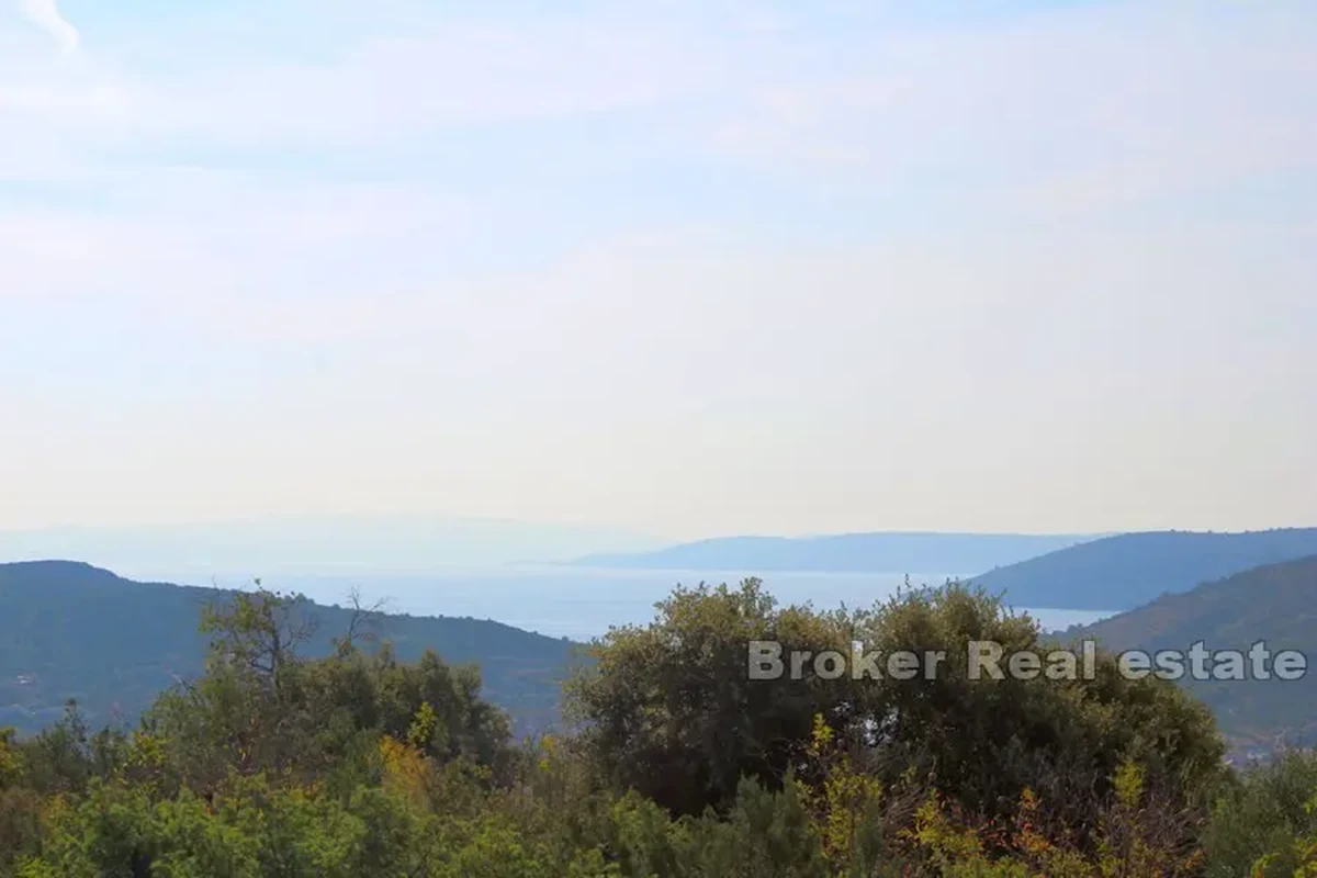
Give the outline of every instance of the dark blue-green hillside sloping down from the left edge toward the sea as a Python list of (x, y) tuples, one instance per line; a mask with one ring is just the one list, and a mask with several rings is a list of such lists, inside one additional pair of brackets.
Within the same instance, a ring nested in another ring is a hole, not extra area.
[[(202, 670), (202, 608), (232, 592), (132, 582), (66, 561), (0, 565), (0, 727), (36, 731), (76, 698), (91, 719), (130, 719), (176, 679)], [(315, 606), (307, 653), (327, 654), (352, 611)], [(576, 645), (495, 621), (382, 616), (378, 634), (402, 659), (433, 648), (450, 663), (478, 663), (485, 696), (519, 729), (557, 716)]]

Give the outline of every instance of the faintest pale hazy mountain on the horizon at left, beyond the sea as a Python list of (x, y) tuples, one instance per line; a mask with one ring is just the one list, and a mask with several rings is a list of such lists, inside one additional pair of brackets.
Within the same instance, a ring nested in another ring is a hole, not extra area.
[[(286, 566), (420, 570), (647, 552), (662, 541), (622, 528), (437, 515), (265, 516), (245, 521), (0, 530), (0, 558), (76, 558), (169, 578), (269, 575)], [(167, 574), (165, 571), (169, 571)]]

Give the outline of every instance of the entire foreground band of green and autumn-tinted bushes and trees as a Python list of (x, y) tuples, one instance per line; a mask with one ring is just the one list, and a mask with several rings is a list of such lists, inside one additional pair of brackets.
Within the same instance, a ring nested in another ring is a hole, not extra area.
[[(1231, 774), (1206, 708), (1106, 654), (1092, 681), (973, 682), (969, 640), (1040, 634), (961, 586), (832, 613), (678, 590), (595, 645), (570, 733), (524, 744), (474, 671), (362, 642), (361, 613), (304, 656), (304, 611), (225, 595), (205, 673), (133, 728), (72, 707), (0, 733), (0, 875), (1317, 874), (1317, 763)], [(948, 662), (752, 681), (752, 638)]]

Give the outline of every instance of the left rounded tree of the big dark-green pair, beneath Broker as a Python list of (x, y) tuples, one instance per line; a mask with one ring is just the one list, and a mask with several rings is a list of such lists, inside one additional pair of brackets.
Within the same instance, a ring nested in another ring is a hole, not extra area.
[(752, 681), (747, 645), (847, 644), (846, 620), (778, 608), (759, 579), (677, 588), (647, 628), (615, 628), (593, 666), (569, 682), (569, 716), (605, 777), (674, 813), (731, 807), (743, 777), (780, 790), (818, 713), (848, 687), (817, 679)]

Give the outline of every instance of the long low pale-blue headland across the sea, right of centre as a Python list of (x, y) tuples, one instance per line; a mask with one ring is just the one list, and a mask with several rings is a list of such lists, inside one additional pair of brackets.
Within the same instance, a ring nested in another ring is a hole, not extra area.
[(1090, 536), (1014, 533), (847, 533), (720, 537), (657, 552), (593, 554), (576, 566), (699, 571), (968, 573), (1064, 549)]

